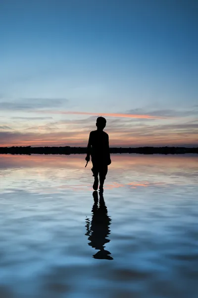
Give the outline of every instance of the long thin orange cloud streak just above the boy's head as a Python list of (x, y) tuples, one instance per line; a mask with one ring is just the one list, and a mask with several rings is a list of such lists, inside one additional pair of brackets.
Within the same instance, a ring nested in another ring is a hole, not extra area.
[(70, 114), (70, 115), (91, 115), (91, 116), (106, 116), (106, 117), (122, 117), (122, 118), (141, 118), (141, 119), (164, 119), (164, 117), (136, 114), (121, 114), (121, 113), (91, 113), (77, 111), (36, 111), (37, 113), (46, 114)]

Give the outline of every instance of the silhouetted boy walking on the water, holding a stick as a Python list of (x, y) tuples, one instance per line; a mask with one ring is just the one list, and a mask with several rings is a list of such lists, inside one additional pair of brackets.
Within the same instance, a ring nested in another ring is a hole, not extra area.
[(108, 165), (111, 163), (108, 134), (103, 131), (106, 126), (106, 119), (103, 117), (97, 118), (96, 126), (97, 130), (90, 133), (85, 159), (90, 161), (90, 155), (92, 156), (92, 172), (95, 178), (94, 190), (97, 190), (98, 186), (100, 190), (103, 190)]

